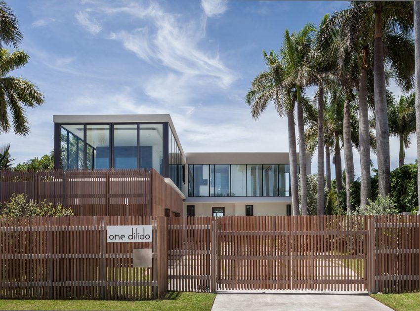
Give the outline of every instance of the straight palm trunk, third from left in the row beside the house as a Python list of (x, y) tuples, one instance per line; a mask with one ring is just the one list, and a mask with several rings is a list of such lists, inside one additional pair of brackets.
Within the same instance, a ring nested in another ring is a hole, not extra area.
[(324, 174), (324, 88), (318, 88), (318, 195), (317, 215), (324, 215), (325, 209), (325, 174)]

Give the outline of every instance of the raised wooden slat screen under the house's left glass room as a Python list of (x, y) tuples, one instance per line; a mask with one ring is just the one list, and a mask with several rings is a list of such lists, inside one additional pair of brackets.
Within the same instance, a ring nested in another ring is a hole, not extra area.
[(75, 216), (183, 216), (183, 198), (154, 169), (0, 171), (0, 204), (12, 194), (73, 208)]

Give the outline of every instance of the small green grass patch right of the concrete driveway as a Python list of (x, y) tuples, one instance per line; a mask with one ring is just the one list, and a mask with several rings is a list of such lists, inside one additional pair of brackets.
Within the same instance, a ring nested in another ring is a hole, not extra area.
[(396, 311), (420, 310), (420, 293), (372, 294), (371, 297)]

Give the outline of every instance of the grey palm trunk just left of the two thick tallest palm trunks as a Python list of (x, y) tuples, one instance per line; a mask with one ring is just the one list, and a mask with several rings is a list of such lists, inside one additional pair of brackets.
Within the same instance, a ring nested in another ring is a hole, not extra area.
[(350, 100), (346, 96), (344, 101), (344, 120), (343, 120), (343, 142), (344, 142), (344, 167), (345, 167), (345, 189), (347, 215), (353, 209), (350, 202), (350, 185), (354, 181), (353, 148), (351, 145), (350, 129)]

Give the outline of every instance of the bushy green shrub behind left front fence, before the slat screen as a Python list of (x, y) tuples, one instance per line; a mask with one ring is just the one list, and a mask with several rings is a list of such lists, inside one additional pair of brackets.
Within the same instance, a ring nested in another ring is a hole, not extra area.
[(46, 203), (46, 200), (40, 203), (29, 201), (28, 195), (13, 194), (10, 201), (0, 205), (1, 215), (6, 217), (33, 217), (33, 216), (73, 216), (71, 208), (63, 207), (58, 204), (53, 206), (52, 203)]

